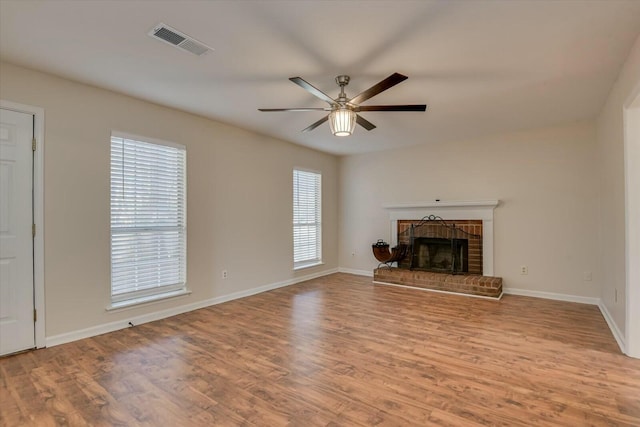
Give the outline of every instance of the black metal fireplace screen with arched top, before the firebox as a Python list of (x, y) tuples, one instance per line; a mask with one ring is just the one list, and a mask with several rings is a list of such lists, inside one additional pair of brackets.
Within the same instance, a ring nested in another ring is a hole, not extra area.
[[(406, 232), (411, 251), (409, 268), (439, 273), (469, 273), (470, 242), (475, 248), (482, 239), (482, 236), (462, 230), (434, 215), (411, 224)], [(406, 239), (406, 236), (399, 237)]]

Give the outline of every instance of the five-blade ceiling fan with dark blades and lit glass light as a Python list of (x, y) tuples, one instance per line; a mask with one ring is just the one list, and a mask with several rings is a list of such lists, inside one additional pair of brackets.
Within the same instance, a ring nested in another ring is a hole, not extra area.
[(353, 98), (347, 98), (344, 93), (344, 87), (349, 84), (349, 76), (336, 77), (336, 83), (340, 86), (340, 94), (336, 99), (331, 98), (326, 93), (322, 92), (318, 88), (312, 86), (310, 83), (302, 79), (301, 77), (291, 77), (289, 80), (305, 89), (312, 95), (320, 98), (329, 104), (329, 107), (324, 108), (259, 108), (259, 111), (275, 112), (275, 111), (329, 111), (325, 117), (321, 118), (317, 122), (313, 123), (309, 127), (302, 130), (302, 132), (309, 132), (326, 122), (329, 121), (331, 127), (331, 133), (336, 136), (348, 136), (353, 133), (356, 123), (365, 128), (366, 130), (375, 129), (375, 125), (370, 121), (364, 119), (358, 113), (361, 111), (425, 111), (427, 106), (420, 105), (360, 105), (362, 102), (369, 98), (372, 98), (400, 82), (408, 79), (407, 76), (403, 76), (399, 73), (393, 73), (381, 82), (371, 86), (359, 95)]

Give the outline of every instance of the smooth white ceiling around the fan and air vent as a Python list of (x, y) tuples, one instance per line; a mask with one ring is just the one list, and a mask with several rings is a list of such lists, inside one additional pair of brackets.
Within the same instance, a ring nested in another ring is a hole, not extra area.
[[(163, 22), (213, 47), (201, 57), (147, 36)], [(0, 59), (334, 154), (594, 118), (640, 34), (640, 0), (0, 0)], [(409, 79), (363, 105), (378, 127), (351, 137), (288, 78), (355, 96), (393, 72)]]

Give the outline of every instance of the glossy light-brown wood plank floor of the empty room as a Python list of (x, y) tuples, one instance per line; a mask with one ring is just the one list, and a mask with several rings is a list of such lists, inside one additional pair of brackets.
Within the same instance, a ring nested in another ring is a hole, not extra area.
[(5, 426), (639, 426), (595, 306), (334, 274), (0, 359)]

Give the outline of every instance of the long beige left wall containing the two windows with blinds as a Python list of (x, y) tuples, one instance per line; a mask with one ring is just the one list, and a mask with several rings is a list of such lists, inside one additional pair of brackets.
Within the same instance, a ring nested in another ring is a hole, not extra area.
[[(337, 158), (48, 74), (0, 67), (0, 98), (45, 110), (47, 337), (338, 267)], [(187, 147), (188, 297), (105, 310), (111, 130)], [(325, 265), (298, 272), (291, 248), (294, 166), (323, 175)]]

